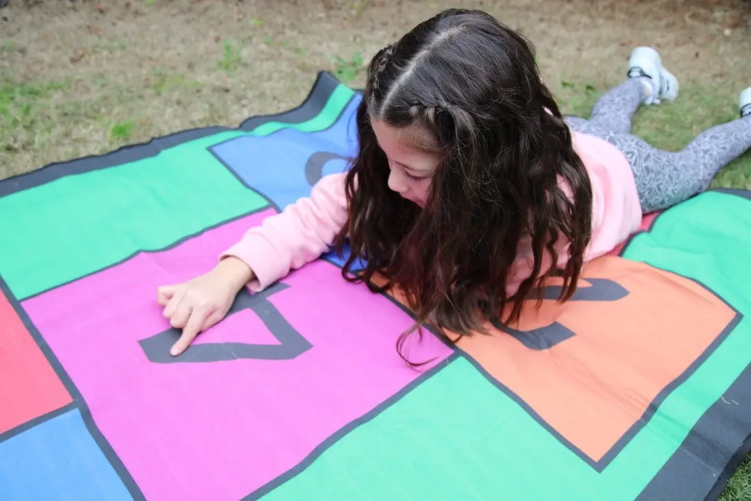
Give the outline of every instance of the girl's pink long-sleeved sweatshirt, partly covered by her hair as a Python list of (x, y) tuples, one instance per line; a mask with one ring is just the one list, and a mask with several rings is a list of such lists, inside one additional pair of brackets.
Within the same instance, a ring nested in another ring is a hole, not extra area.
[[(614, 249), (638, 228), (641, 205), (633, 172), (623, 153), (598, 137), (574, 131), (572, 134), (593, 189), (593, 239), (586, 255), (586, 261), (590, 261)], [(309, 197), (264, 219), (261, 226), (250, 228), (239, 242), (222, 253), (222, 258), (240, 258), (253, 270), (256, 278), (249, 283), (250, 291), (264, 290), (330, 249), (347, 219), (344, 177), (343, 173), (322, 177)], [(563, 246), (565, 243), (562, 249)], [(529, 275), (531, 258), (531, 249), (522, 243), (507, 284), (508, 294), (513, 294)], [(565, 262), (563, 252), (558, 264)]]

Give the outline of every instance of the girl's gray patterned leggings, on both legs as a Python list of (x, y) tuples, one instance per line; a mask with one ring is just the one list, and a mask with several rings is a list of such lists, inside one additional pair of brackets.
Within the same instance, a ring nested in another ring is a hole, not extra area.
[(590, 119), (567, 116), (578, 132), (614, 144), (629, 160), (644, 213), (664, 210), (709, 188), (717, 171), (751, 148), (751, 115), (699, 134), (683, 151), (668, 152), (631, 134), (644, 85), (628, 79), (599, 98)]

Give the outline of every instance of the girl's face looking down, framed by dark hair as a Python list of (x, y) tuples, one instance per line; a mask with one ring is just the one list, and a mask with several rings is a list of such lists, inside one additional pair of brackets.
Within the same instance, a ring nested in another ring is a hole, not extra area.
[(418, 128), (394, 128), (380, 120), (372, 120), (371, 125), (388, 158), (388, 187), (424, 207), (433, 174), (441, 162), (439, 155), (427, 152), (435, 147), (430, 134)]

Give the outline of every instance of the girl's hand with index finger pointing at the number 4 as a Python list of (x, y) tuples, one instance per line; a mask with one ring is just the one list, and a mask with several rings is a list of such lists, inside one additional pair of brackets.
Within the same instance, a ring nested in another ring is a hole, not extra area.
[(237, 293), (254, 276), (240, 259), (225, 258), (204, 275), (158, 288), (157, 301), (164, 306), (164, 317), (172, 327), (182, 329), (170, 355), (180, 355), (198, 333), (225, 318)]

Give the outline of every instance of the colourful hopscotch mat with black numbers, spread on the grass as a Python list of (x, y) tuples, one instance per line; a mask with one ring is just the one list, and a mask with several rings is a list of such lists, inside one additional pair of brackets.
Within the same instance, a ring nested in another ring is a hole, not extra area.
[(359, 101), (321, 73), (288, 113), (0, 182), (0, 498), (719, 496), (751, 435), (749, 192), (645, 220), (513, 329), (429, 334), (422, 370), (333, 254), (167, 354), (157, 286), (346, 168)]

